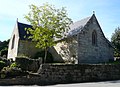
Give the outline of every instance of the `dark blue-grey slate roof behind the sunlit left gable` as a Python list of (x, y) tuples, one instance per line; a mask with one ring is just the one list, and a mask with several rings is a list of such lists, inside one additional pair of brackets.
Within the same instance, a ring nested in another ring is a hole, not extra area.
[(28, 39), (28, 36), (30, 36), (30, 34), (27, 34), (25, 28), (32, 28), (32, 26), (28, 24), (23, 24), (20, 22), (17, 22), (17, 25), (18, 25), (18, 32), (19, 32), (20, 40), (30, 40)]

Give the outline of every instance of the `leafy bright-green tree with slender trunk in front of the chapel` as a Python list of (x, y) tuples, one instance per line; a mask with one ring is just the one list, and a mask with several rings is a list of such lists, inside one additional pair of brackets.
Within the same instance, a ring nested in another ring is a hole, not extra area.
[(55, 45), (55, 40), (65, 37), (72, 20), (67, 17), (64, 7), (56, 9), (48, 3), (39, 7), (30, 5), (25, 18), (33, 27), (26, 29), (31, 35), (29, 38), (37, 42), (36, 47), (45, 50), (45, 62), (48, 48)]

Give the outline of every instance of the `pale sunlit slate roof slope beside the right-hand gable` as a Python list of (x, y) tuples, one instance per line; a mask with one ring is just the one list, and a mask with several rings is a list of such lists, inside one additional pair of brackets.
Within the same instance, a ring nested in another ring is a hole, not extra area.
[(73, 36), (79, 33), (81, 29), (86, 25), (86, 23), (90, 20), (90, 18), (91, 16), (71, 24), (67, 36)]

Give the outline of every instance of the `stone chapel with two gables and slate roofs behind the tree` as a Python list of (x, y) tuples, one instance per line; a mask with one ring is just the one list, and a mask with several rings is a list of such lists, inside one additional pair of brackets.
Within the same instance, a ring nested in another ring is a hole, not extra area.
[[(21, 55), (33, 57), (40, 51), (35, 47), (35, 42), (27, 39), (29, 35), (25, 28), (31, 27), (17, 21), (9, 42), (8, 59), (15, 60)], [(95, 14), (71, 24), (67, 36), (57, 42), (54, 47), (49, 48), (54, 61), (93, 64), (114, 60), (113, 46), (105, 37)]]

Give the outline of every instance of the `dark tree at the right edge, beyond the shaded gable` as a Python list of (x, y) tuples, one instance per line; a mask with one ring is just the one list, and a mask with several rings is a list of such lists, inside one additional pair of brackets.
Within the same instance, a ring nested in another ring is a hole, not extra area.
[(114, 56), (120, 57), (120, 27), (116, 28), (112, 34), (111, 42), (114, 45)]

